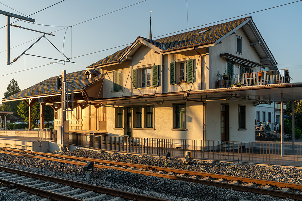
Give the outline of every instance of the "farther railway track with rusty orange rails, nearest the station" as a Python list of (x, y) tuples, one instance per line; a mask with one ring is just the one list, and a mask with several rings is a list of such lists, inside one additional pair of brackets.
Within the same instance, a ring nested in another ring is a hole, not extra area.
[(164, 177), (181, 181), (194, 182), (209, 186), (217, 186), (239, 191), (248, 191), (282, 198), (302, 200), (301, 184), (292, 184), (278, 181), (268, 181), (245, 177), (235, 177), (221, 174), (172, 169), (158, 166), (138, 165), (99, 159), (89, 159), (76, 156), (32, 152), (20, 149), (2, 148), (0, 153), (52, 160), (74, 165), (85, 165), (87, 161), (93, 161), (95, 168), (112, 168), (121, 171), (128, 171), (148, 176)]

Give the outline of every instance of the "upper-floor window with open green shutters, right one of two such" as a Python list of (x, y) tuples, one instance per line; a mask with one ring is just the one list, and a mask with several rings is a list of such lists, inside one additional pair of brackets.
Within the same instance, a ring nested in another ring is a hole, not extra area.
[(193, 82), (193, 64), (193, 59), (170, 63), (170, 84)]

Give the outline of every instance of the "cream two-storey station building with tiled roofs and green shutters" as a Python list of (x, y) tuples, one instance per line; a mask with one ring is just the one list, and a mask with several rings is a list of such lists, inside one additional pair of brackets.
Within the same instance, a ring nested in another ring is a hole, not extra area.
[[(159, 39), (138, 36), (86, 68), (66, 75), (69, 129), (130, 137), (254, 142), (255, 105), (292, 100), (301, 87), (277, 68), (251, 17)], [(30, 106), (43, 97), (61, 125), (56, 80), (4, 101), (30, 99)]]

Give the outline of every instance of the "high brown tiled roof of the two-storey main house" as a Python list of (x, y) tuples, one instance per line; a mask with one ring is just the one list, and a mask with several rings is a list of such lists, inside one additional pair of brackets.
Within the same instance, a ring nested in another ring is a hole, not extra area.
[[(233, 30), (235, 27), (237, 27), (239, 24), (243, 23), (245, 20), (251, 17), (244, 17), (238, 20), (233, 20), (230, 22), (225, 22), (222, 24), (213, 25), (210, 27), (204, 27), (197, 30), (188, 31), (185, 33), (179, 33), (173, 36), (167, 36), (165, 38), (160, 38), (156, 40), (151, 40), (147, 38), (145, 39), (147, 42), (153, 44), (154, 46), (158, 47), (159, 49), (162, 49), (162, 46), (164, 49), (162, 51), (169, 51), (175, 48), (182, 48), (182, 47), (188, 47), (192, 45), (207, 43), (207, 42), (214, 42), (217, 39), (224, 36), (226, 33)], [(198, 34), (202, 30), (207, 30), (204, 33)], [(105, 64), (115, 63), (118, 62), (120, 57), (128, 50), (130, 46), (127, 46), (114, 54), (103, 58), (102, 60), (95, 62), (94, 64), (91, 64), (87, 68), (90, 68), (92, 66), (101, 66)]]

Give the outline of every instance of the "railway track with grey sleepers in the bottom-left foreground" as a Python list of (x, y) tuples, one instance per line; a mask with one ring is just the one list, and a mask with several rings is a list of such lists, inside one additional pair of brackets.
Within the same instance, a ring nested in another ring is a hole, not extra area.
[[(32, 193), (31, 198), (37, 195), (51, 200), (108, 200), (119, 201), (124, 199), (140, 201), (167, 201), (166, 199), (129, 193), (126, 191), (85, 184), (77, 181), (36, 174), (0, 166), (0, 190), (22, 190), (23, 193)], [(22, 195), (22, 193), (20, 193)], [(46, 199), (45, 199), (46, 200)]]

